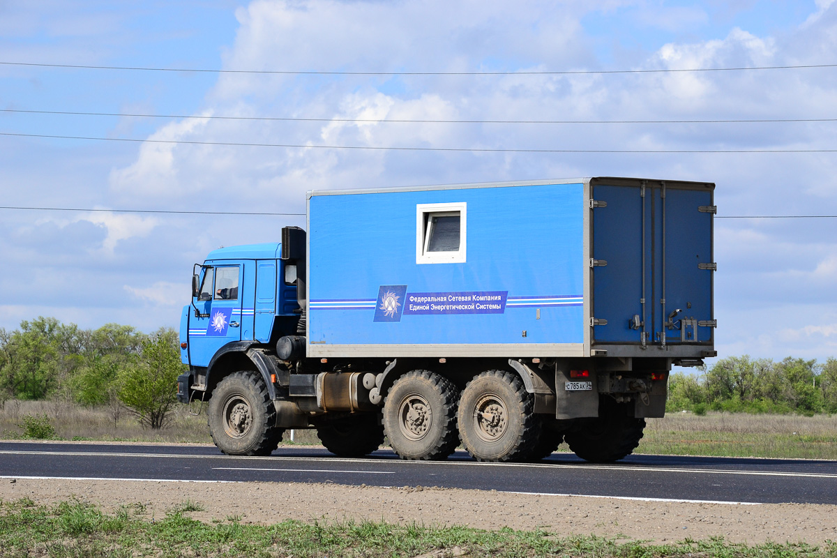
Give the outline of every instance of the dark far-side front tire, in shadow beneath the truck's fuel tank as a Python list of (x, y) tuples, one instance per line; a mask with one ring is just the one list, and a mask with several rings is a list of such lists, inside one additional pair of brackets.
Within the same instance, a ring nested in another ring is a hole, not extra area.
[(377, 413), (334, 417), (316, 425), (322, 445), (341, 458), (368, 455), (383, 443), (383, 425)]

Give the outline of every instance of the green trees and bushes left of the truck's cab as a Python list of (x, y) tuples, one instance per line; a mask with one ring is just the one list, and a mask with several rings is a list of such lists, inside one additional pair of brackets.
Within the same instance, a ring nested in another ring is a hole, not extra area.
[(167, 426), (177, 401), (177, 331), (145, 334), (131, 325), (96, 330), (39, 317), (17, 330), (0, 328), (0, 406), (8, 399), (66, 399), (107, 406), (118, 420), (127, 408), (151, 428)]

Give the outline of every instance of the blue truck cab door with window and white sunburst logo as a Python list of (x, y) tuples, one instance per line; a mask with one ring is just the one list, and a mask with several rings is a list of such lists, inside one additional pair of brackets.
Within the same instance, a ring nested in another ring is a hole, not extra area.
[(189, 317), (189, 364), (208, 366), (215, 353), (241, 340), (241, 301), (244, 294), (243, 262), (208, 262), (201, 270), (198, 296)]

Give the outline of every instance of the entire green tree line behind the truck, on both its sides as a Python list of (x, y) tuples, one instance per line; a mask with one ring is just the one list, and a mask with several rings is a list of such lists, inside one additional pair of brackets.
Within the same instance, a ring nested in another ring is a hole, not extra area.
[[(0, 329), (0, 406), (10, 398), (67, 399), (105, 406), (112, 416), (131, 409), (148, 427), (167, 425), (177, 401), (177, 331), (151, 334), (131, 325), (96, 330), (54, 318)], [(670, 376), (669, 412), (837, 413), (837, 359), (824, 363), (732, 356), (697, 374)]]

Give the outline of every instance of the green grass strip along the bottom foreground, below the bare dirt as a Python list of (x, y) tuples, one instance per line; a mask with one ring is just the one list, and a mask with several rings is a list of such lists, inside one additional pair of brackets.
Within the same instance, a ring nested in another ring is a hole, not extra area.
[(745, 545), (716, 538), (652, 545), (592, 535), (558, 537), (546, 530), (477, 530), (454, 526), (393, 525), (345, 520), (275, 525), (213, 524), (190, 519), (183, 504), (161, 520), (141, 507), (116, 514), (70, 500), (50, 506), (29, 499), (0, 502), (0, 555), (7, 558), (247, 556), (248, 558), (383, 558), (384, 556), (596, 556), (598, 558), (814, 558), (837, 556), (837, 543), (823, 546)]

